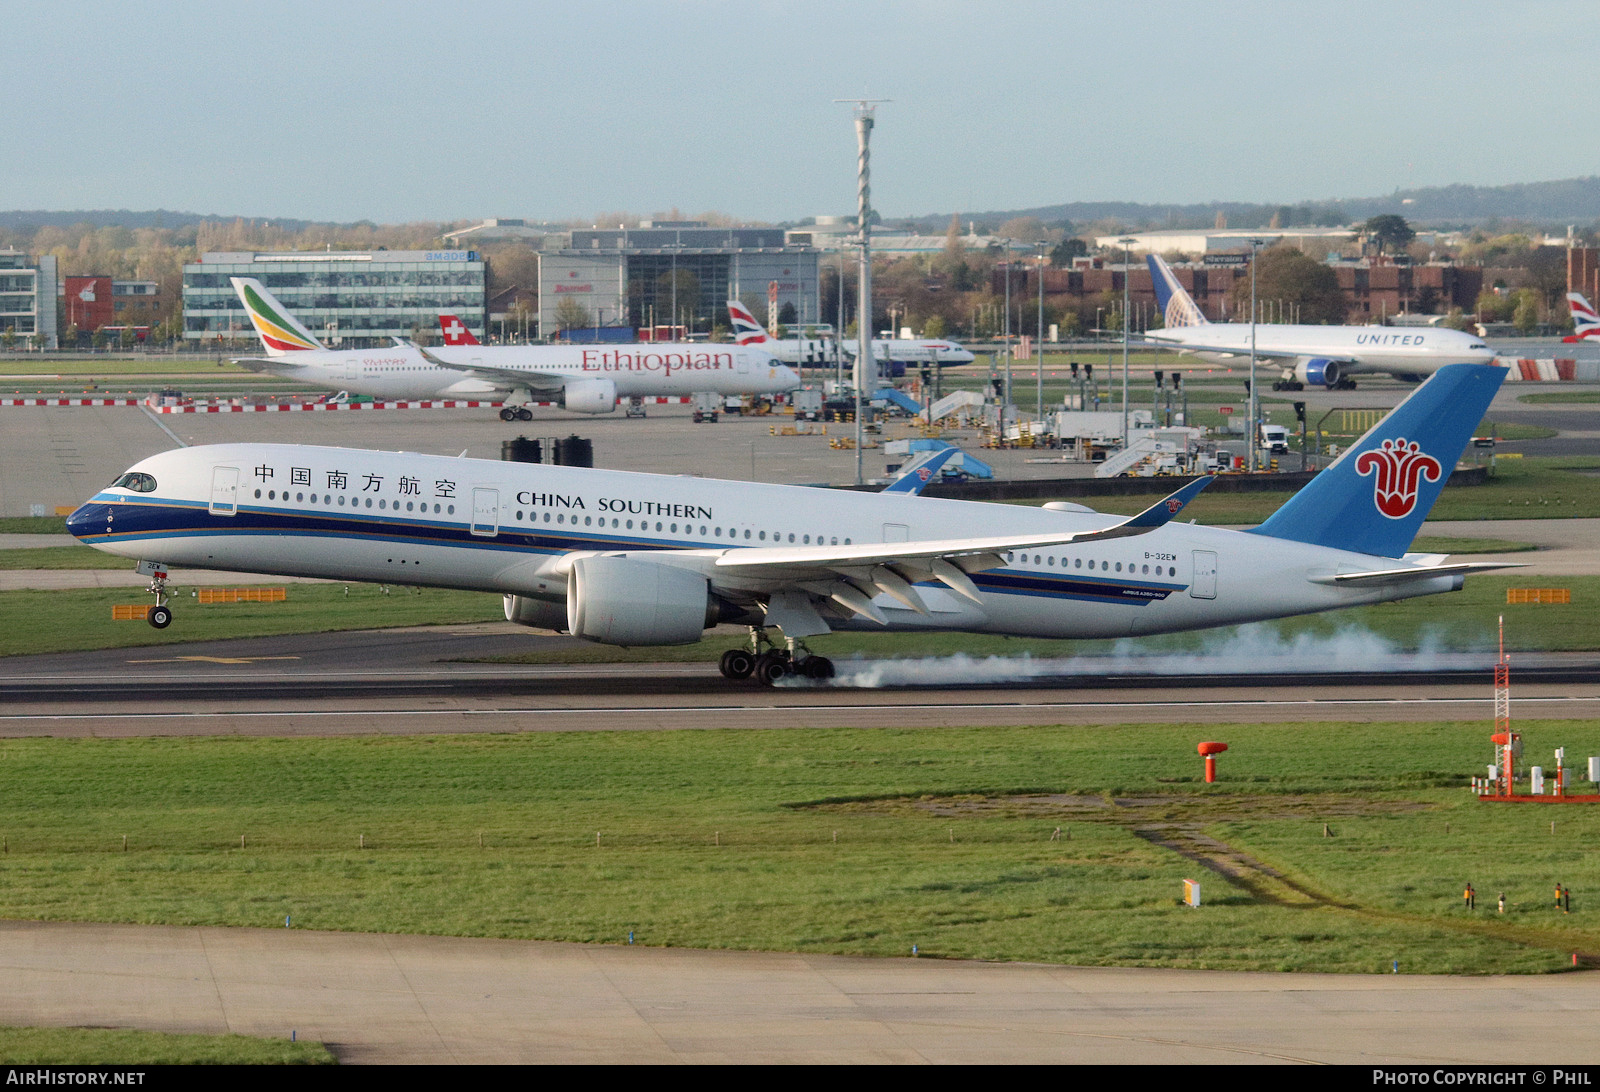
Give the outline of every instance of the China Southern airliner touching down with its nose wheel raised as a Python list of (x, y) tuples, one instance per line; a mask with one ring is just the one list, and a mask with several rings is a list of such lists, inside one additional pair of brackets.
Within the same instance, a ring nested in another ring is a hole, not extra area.
[[(165, 565), (498, 592), (509, 621), (611, 645), (750, 628), (728, 677), (827, 677), (834, 629), (1126, 637), (1429, 596), (1469, 572), (1408, 554), (1506, 371), (1442, 368), (1251, 532), (915, 496), (394, 452), (229, 444), (136, 463), (69, 519)], [(773, 634), (781, 634), (781, 644)]]

